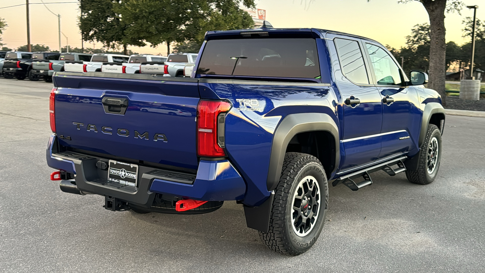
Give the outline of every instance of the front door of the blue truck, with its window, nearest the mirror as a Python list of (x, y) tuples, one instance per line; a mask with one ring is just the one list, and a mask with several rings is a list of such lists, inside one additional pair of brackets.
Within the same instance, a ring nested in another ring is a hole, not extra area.
[(373, 81), (383, 100), (379, 158), (408, 152), (419, 141), (421, 111), (416, 106), (419, 103), (416, 90), (405, 87), (404, 73), (384, 47), (372, 41), (364, 44)]

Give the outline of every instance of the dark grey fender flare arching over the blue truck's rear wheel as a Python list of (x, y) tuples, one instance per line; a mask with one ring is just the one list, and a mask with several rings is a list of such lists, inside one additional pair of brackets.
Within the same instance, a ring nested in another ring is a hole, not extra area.
[(283, 169), (286, 148), (296, 134), (310, 131), (327, 131), (335, 139), (335, 168), (340, 161), (339, 127), (334, 119), (323, 113), (299, 113), (286, 116), (276, 128), (271, 146), (270, 165), (266, 186), (269, 191), (276, 188)]

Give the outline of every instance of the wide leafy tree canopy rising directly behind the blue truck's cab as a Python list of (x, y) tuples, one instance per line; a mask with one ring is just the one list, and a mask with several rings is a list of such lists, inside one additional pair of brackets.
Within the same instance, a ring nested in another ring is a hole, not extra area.
[(255, 7), (254, 0), (125, 0), (117, 12), (134, 40), (152, 47), (162, 42), (202, 44), (206, 31), (249, 28), (252, 18), (239, 6)]

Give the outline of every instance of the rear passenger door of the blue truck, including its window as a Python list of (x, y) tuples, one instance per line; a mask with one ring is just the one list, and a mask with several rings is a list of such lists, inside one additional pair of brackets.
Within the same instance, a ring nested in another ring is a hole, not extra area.
[[(377, 160), (381, 151), (382, 102), (371, 84), (360, 39), (328, 34), (335, 80), (343, 100), (343, 145), (340, 171), (349, 171)], [(336, 62), (338, 61), (338, 62)]]

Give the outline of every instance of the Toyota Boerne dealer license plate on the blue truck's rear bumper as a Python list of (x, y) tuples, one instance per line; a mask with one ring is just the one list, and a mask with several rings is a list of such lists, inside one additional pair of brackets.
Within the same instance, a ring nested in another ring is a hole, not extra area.
[(108, 162), (108, 181), (125, 186), (138, 186), (138, 165), (117, 160)]

